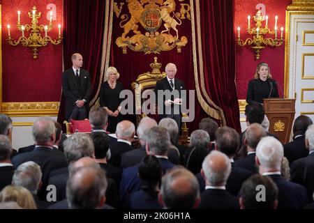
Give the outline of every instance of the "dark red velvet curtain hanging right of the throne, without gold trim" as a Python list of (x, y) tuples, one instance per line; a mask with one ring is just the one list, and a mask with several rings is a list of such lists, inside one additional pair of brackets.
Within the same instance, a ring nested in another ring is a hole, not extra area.
[[(196, 3), (196, 1), (195, 1)], [(200, 0), (204, 82), (228, 126), (241, 131), (235, 85), (234, 0)]]

